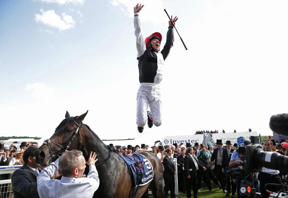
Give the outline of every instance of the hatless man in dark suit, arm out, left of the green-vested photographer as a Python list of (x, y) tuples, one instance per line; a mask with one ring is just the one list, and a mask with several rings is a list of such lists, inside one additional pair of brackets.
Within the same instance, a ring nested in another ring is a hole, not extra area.
[(198, 164), (194, 155), (194, 150), (191, 147), (187, 148), (187, 155), (184, 158), (184, 174), (186, 178), (186, 191), (187, 198), (191, 198), (191, 186), (193, 188), (193, 196), (197, 198), (198, 185), (197, 185), (197, 171), (199, 168), (203, 168), (206, 171), (206, 168)]

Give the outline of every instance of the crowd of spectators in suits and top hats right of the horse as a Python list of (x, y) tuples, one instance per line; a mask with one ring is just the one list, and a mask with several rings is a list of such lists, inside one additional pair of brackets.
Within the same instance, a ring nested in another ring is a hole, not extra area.
[[(251, 129), (249, 129), (249, 131), (250, 130)], [(158, 142), (159, 145), (156, 146)], [(223, 146), (223, 144), (225, 144), (225, 146)], [(230, 177), (227, 176), (226, 169), (228, 167), (236, 168), (240, 166), (242, 162), (245, 162), (245, 156), (238, 154), (238, 148), (246, 147), (248, 144), (250, 144), (250, 140), (245, 140), (243, 137), (239, 137), (237, 139), (237, 143), (234, 144), (232, 144), (230, 141), (222, 143), (221, 139), (217, 139), (216, 148), (213, 148), (212, 146), (210, 147), (210, 145), (205, 145), (204, 143), (195, 143), (193, 147), (190, 143), (186, 143), (185, 145), (177, 145), (177, 143), (175, 143), (171, 146), (163, 146), (163, 143), (160, 141), (156, 141), (154, 146), (152, 147), (146, 144), (141, 144), (141, 147), (139, 145), (136, 145), (134, 147), (128, 145), (127, 147), (131, 148), (131, 151), (128, 151), (126, 146), (113, 146), (113, 144), (110, 144), (109, 146), (114, 149), (117, 148), (117, 150), (119, 152), (122, 152), (123, 154), (129, 154), (143, 150), (152, 152), (161, 161), (163, 161), (164, 173), (165, 169), (169, 169), (170, 171), (173, 170), (173, 167), (171, 168), (171, 163), (169, 160), (166, 160), (166, 165), (164, 164), (165, 158), (177, 158), (178, 191), (187, 193), (187, 197), (197, 197), (197, 192), (203, 190), (203, 183), (208, 187), (210, 193), (214, 192), (212, 191), (213, 188), (219, 188), (223, 191), (223, 193), (225, 193), (224, 195), (227, 197), (244, 197), (240, 194), (240, 183), (241, 179), (245, 179), (247, 175), (244, 175), (244, 178)], [(265, 151), (278, 152), (286, 156), (288, 155), (288, 142), (284, 139), (282, 139), (280, 143), (275, 142), (275, 140), (273, 139), (266, 139), (261, 143), (261, 145), (263, 146), (263, 150)], [(188, 161), (189, 156), (191, 156), (191, 161)], [(189, 164), (188, 171), (185, 170), (185, 158), (186, 163)], [(197, 167), (194, 166), (194, 168), (197, 170), (196, 172), (193, 172), (193, 168), (190, 167), (190, 164), (194, 163), (193, 161), (195, 162), (195, 164), (197, 164)], [(168, 173), (166, 171), (166, 175), (167, 174)], [(260, 173), (253, 174), (254, 186), (257, 192), (262, 193), (262, 197), (264, 198), (268, 198), (269, 196), (268, 193), (264, 190), (265, 184), (282, 184), (283, 182), (281, 174), (277, 170), (263, 168)], [(169, 179), (167, 179), (167, 177), (165, 179), (164, 177), (164, 183), (166, 186), (164, 186), (164, 192), (167, 193), (168, 190), (170, 190), (172, 193), (171, 197), (174, 197), (174, 191), (173, 189), (171, 190), (171, 188), (173, 187), (173, 179), (171, 179), (171, 176), (173, 176), (173, 174), (170, 175)], [(189, 179), (188, 176), (190, 176)], [(191, 187), (193, 189), (192, 195), (190, 193)]]

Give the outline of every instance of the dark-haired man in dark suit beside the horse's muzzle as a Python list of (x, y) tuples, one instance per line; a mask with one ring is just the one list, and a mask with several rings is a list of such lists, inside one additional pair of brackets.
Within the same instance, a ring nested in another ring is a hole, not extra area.
[(23, 153), (24, 165), (17, 169), (12, 175), (12, 189), (14, 197), (38, 198), (37, 179), (41, 171), (40, 164), (35, 162), (34, 146), (28, 147)]

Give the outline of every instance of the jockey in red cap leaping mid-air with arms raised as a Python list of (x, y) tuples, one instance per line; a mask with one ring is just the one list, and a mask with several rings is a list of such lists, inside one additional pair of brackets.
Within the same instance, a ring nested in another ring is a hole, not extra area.
[[(144, 5), (143, 5), (144, 6)], [(160, 52), (162, 35), (155, 32), (143, 39), (142, 26), (139, 12), (143, 8), (137, 4), (134, 7), (134, 27), (136, 35), (136, 49), (139, 69), (140, 87), (137, 93), (137, 125), (138, 131), (143, 132), (144, 125), (148, 119), (148, 127), (153, 123), (156, 127), (162, 123), (162, 103), (159, 83), (162, 81), (164, 61), (174, 42), (173, 24), (177, 21), (171, 16), (167, 31), (167, 40)], [(150, 111), (148, 111), (148, 105)]]

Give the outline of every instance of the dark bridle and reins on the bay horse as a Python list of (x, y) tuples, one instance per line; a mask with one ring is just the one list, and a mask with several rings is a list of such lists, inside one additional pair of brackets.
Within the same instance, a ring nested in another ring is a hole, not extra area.
[[(50, 142), (56, 144), (57, 146), (59, 146), (59, 147), (61, 148), (60, 152), (58, 152), (59, 155), (55, 154), (55, 155), (57, 155), (57, 156), (60, 157), (60, 155), (64, 152), (65, 146), (66, 146), (65, 152), (68, 151), (68, 149), (69, 149), (69, 147), (70, 147), (70, 144), (72, 143), (73, 139), (76, 137), (77, 134), (79, 135), (79, 140), (80, 140), (80, 142), (79, 142), (79, 149), (78, 149), (78, 150), (80, 151), (80, 149), (81, 149), (81, 147), (82, 147), (82, 140), (81, 140), (81, 135), (80, 135), (79, 129), (80, 129), (81, 126), (82, 126), (82, 122), (81, 122), (80, 124), (76, 123), (76, 121), (73, 121), (73, 122), (76, 124), (77, 129), (76, 129), (76, 131), (73, 133), (72, 137), (71, 137), (63, 146), (60, 145), (59, 143), (53, 141), (53, 140), (50, 140), (50, 139), (46, 139), (46, 140), (43, 142), (43, 144), (47, 144), (47, 147), (48, 147), (48, 149), (49, 149), (49, 153), (50, 153), (50, 157), (51, 157), (51, 158), (52, 158), (52, 152), (51, 152), (51, 147), (50, 147), (50, 144), (49, 144)], [(61, 152), (61, 151), (62, 151), (62, 152)], [(108, 159), (105, 160), (104, 162), (101, 162), (100, 164), (95, 164), (95, 166), (99, 166), (99, 165), (101, 165), (101, 164), (104, 164), (105, 162), (107, 162), (107, 161), (110, 159), (110, 157), (111, 157), (111, 152), (110, 152), (110, 150), (109, 150)]]

